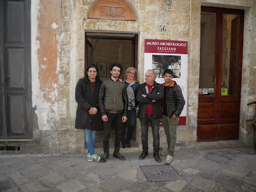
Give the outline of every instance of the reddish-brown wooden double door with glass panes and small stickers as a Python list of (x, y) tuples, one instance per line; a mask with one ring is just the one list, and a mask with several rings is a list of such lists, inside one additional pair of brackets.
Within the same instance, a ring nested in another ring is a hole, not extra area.
[(244, 10), (201, 8), (197, 141), (239, 139)]

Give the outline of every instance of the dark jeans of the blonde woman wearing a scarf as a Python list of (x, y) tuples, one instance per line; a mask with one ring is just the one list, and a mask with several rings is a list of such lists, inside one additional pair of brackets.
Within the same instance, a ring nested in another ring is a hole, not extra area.
[(130, 144), (130, 140), (132, 139), (132, 133), (133, 133), (135, 125), (136, 125), (136, 118), (137, 118), (136, 111), (128, 110), (127, 117), (128, 117), (128, 130), (127, 130), (127, 134), (126, 134), (126, 139), (125, 139), (125, 126), (126, 126), (127, 121), (122, 123), (121, 142)]

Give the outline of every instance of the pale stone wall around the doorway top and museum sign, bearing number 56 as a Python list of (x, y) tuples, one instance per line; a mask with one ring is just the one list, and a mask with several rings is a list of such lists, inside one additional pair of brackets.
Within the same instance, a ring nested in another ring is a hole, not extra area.
[[(200, 12), (195, 12), (195, 17), (199, 18), (197, 25), (191, 26), (191, 2), (190, 1), (127, 1), (135, 10), (137, 15), (137, 21), (110, 21), (110, 20), (98, 20), (98, 19), (87, 19), (90, 6), (94, 1), (81, 1), (78, 6), (79, 11), (77, 12), (77, 21), (83, 20), (83, 28), (77, 26), (79, 31), (77, 34), (81, 37), (80, 42), (84, 46), (84, 31), (94, 32), (95, 30), (105, 31), (105, 32), (133, 32), (139, 34), (139, 61), (138, 61), (138, 74), (139, 81), (144, 82), (144, 39), (172, 39), (178, 41), (188, 41), (189, 49), (190, 41), (193, 39), (193, 47), (198, 46), (198, 48), (193, 48), (192, 52), (188, 54), (190, 59), (190, 54), (194, 54), (193, 62), (195, 63), (193, 67), (188, 67), (188, 73), (190, 70), (195, 70), (195, 79), (198, 79), (199, 74), (199, 50), (200, 34), (196, 33), (198, 28), (200, 28)], [(199, 2), (193, 2), (193, 6), (198, 5)], [(168, 18), (168, 20), (166, 20)], [(166, 33), (159, 32), (159, 25), (166, 25)], [(195, 30), (193, 37), (191, 36), (191, 30)], [(191, 61), (189, 62), (190, 65)], [(80, 68), (83, 68), (83, 62)], [(191, 73), (190, 73), (191, 74)], [(178, 129), (178, 142), (190, 143), (190, 147), (195, 145), (197, 140), (196, 129), (197, 129), (197, 115), (195, 115), (195, 110), (197, 110), (197, 86), (198, 83), (188, 81), (188, 89), (193, 91), (188, 91), (190, 96), (187, 98), (188, 101), (188, 126), (180, 126)], [(185, 109), (186, 110), (186, 109)], [(137, 141), (140, 142), (140, 126), (137, 126)], [(161, 140), (165, 139), (164, 130), (160, 130)], [(150, 140), (152, 143), (152, 140)], [(149, 146), (152, 146), (151, 144)]]

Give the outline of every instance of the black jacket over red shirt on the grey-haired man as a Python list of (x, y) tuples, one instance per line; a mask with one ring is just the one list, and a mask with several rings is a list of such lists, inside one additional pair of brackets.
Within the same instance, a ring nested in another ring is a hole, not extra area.
[[(143, 83), (139, 85), (136, 99), (139, 102), (139, 112), (138, 117), (144, 118), (146, 114), (146, 106), (147, 104), (152, 104), (152, 112), (153, 112), (153, 118), (161, 118), (162, 117), (162, 108), (161, 108), (161, 101), (162, 101), (162, 85), (155, 82), (153, 84), (153, 88), (151, 93), (146, 93), (146, 86), (147, 84)], [(159, 93), (159, 94), (157, 94)], [(146, 95), (146, 97), (143, 97), (142, 95)], [(156, 102), (152, 102), (155, 100)]]

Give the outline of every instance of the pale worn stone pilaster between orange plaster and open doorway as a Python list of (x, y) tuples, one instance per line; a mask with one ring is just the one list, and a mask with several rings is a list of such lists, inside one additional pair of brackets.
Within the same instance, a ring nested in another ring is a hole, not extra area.
[(62, 1), (63, 31), (59, 35), (59, 108), (60, 115), (60, 150), (64, 154), (84, 153), (84, 134), (82, 130), (75, 130), (75, 85), (83, 77), (84, 46), (79, 44), (79, 28), (81, 21), (77, 1)]

